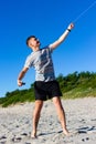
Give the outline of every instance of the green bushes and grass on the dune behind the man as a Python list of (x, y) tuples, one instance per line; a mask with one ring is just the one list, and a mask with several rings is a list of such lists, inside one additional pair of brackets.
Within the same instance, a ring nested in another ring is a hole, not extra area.
[[(60, 74), (56, 80), (60, 83), (64, 99), (76, 99), (85, 96), (96, 96), (96, 73), (94, 72), (74, 72), (63, 76)], [(0, 105), (34, 102), (33, 84), (29, 90), (15, 90), (7, 92), (4, 97), (0, 97)]]

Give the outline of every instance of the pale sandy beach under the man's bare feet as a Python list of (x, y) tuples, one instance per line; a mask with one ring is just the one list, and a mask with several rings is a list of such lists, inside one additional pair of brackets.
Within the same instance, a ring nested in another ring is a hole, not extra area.
[(96, 97), (62, 100), (67, 128), (65, 136), (52, 101), (44, 102), (38, 138), (30, 137), (34, 103), (0, 107), (0, 144), (95, 144)]

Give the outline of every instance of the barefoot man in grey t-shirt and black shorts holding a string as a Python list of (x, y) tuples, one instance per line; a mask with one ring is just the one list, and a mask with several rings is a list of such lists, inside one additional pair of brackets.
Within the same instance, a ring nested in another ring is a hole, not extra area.
[(36, 71), (35, 82), (34, 82), (34, 92), (35, 92), (35, 107), (33, 111), (33, 130), (31, 137), (36, 137), (38, 123), (40, 120), (41, 110), (43, 106), (43, 101), (52, 99), (56, 107), (58, 120), (61, 122), (63, 133), (68, 135), (66, 128), (65, 112), (62, 106), (60, 96), (62, 96), (60, 85), (55, 80), (54, 68), (52, 62), (52, 51), (56, 49), (68, 35), (71, 30), (74, 28), (74, 24), (71, 23), (64, 33), (52, 44), (40, 49), (40, 41), (34, 35), (31, 35), (26, 39), (26, 45), (32, 49), (32, 53), (26, 58), (24, 68), (19, 74), (18, 85), (22, 86), (22, 79), (26, 71), (33, 66)]

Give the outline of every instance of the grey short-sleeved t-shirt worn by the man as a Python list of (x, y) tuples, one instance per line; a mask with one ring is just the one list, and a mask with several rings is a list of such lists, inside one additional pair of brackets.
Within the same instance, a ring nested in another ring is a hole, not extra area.
[(55, 80), (54, 68), (52, 62), (52, 50), (50, 47), (32, 52), (25, 61), (24, 66), (35, 69), (35, 81)]

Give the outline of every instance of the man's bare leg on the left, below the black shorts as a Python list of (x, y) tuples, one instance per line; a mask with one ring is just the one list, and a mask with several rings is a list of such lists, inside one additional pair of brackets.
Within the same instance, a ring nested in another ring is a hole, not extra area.
[(34, 111), (33, 111), (33, 130), (32, 130), (31, 137), (36, 137), (36, 128), (38, 128), (38, 123), (40, 120), (42, 106), (43, 106), (43, 101), (36, 100)]

